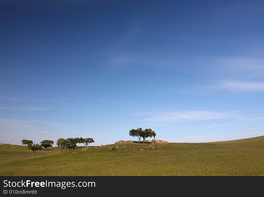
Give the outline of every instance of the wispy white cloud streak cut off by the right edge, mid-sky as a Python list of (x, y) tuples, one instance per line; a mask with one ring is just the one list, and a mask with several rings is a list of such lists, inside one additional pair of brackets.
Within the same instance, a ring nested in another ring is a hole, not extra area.
[(263, 82), (220, 81), (219, 87), (240, 91), (264, 91)]

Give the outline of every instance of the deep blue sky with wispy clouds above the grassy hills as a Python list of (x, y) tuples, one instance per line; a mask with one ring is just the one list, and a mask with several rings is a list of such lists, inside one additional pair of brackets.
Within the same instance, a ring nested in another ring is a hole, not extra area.
[(0, 141), (264, 135), (263, 1), (0, 0)]

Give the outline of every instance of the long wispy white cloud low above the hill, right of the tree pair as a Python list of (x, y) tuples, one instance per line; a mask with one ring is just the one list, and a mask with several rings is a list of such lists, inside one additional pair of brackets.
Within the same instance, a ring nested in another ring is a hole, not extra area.
[(229, 113), (208, 112), (208, 111), (183, 111), (183, 112), (163, 112), (149, 113), (150, 117), (145, 118), (147, 122), (177, 122), (177, 121), (203, 121), (220, 119), (230, 116)]

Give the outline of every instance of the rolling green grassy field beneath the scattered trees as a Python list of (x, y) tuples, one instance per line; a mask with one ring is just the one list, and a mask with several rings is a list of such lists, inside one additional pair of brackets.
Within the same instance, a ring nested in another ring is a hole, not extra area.
[(0, 175), (264, 175), (264, 136), (225, 142), (116, 146), (91, 147), (87, 151), (82, 151), (83, 147), (74, 151), (65, 148), (63, 153), (55, 147), (37, 151), (32, 157), (33, 152), (23, 146), (1, 145)]

